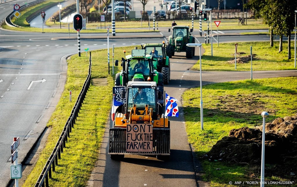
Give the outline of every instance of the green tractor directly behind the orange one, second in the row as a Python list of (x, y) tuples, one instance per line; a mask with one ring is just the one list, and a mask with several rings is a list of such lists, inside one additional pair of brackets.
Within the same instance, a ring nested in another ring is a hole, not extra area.
[[(157, 86), (163, 86), (162, 73), (154, 69), (152, 60), (153, 56), (146, 54), (145, 49), (132, 49), (131, 55), (121, 60), (123, 69), (116, 74), (115, 86), (126, 86), (128, 81), (155, 81)], [(119, 65), (118, 60), (115, 65)]]

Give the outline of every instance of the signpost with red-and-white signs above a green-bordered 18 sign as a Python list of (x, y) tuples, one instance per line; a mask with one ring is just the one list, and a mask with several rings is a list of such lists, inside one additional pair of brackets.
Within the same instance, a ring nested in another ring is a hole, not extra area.
[(15, 187), (18, 187), (18, 179), (22, 178), (22, 165), (18, 164), (18, 146), (20, 145), (20, 137), (13, 138), (11, 148), (11, 163), (15, 162), (14, 165), (10, 165), (10, 178), (15, 179)]

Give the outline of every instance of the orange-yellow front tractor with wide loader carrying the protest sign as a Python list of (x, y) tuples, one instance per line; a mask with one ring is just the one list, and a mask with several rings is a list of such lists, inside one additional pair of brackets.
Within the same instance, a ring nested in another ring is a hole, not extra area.
[(170, 157), (170, 121), (164, 117), (164, 89), (154, 81), (128, 81), (113, 87), (116, 100), (123, 102), (116, 110), (109, 129), (108, 154), (113, 160), (124, 155)]

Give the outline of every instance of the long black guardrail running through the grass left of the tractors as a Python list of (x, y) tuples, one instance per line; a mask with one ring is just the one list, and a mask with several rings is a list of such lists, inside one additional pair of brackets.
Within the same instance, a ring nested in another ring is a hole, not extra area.
[(80, 107), (83, 103), (84, 98), (86, 97), (86, 93), (87, 93), (87, 91), (90, 87), (90, 84), (91, 84), (91, 66), (92, 66), (91, 52), (90, 52), (89, 59), (90, 59), (89, 73), (86, 78), (86, 81), (83, 84), (80, 94), (78, 95), (78, 99), (77, 99), (77, 101), (71, 111), (71, 114), (64, 126), (63, 132), (61, 133), (60, 138), (59, 138), (52, 154), (48, 158), (48, 161), (46, 162), (46, 164), (45, 164), (45, 166), (44, 166), (44, 168), (43, 168), (43, 170), (35, 184), (35, 187), (39, 187), (39, 186), (44, 187), (44, 185), (46, 187), (48, 187), (48, 179), (52, 178), (52, 170), (53, 170), (53, 172), (55, 172), (55, 165), (58, 165), (58, 159), (61, 159), (61, 153), (63, 152), (63, 148), (66, 147), (67, 138), (70, 137), (71, 129), (72, 129), (73, 125), (75, 124), (75, 120), (78, 117)]

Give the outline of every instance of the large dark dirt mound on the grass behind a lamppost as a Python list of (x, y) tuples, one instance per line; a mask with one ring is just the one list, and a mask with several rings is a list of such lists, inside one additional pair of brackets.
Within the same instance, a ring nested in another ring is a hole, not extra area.
[[(232, 129), (204, 155), (209, 160), (261, 162), (262, 127)], [(265, 163), (284, 163), (297, 156), (297, 115), (265, 124)]]

